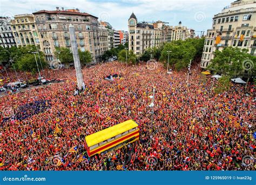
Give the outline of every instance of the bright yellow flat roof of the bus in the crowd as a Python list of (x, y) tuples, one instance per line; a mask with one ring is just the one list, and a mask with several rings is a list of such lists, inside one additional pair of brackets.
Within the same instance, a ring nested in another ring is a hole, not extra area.
[(113, 138), (113, 136), (122, 134), (122, 133), (129, 131), (130, 129), (136, 128), (136, 127), (138, 127), (138, 124), (136, 124), (135, 121), (127, 120), (118, 125), (114, 125), (112, 127), (106, 128), (106, 129), (96, 132), (94, 134), (87, 135), (85, 137), (85, 141), (87, 143), (87, 146), (91, 147), (93, 145), (96, 145), (97, 143), (100, 143), (107, 139)]

